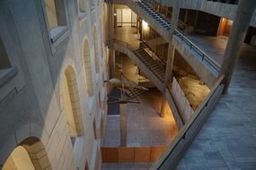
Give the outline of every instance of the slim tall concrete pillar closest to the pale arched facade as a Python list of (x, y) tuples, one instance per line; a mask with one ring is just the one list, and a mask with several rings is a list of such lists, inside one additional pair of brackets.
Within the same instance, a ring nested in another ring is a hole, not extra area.
[(109, 47), (110, 47), (110, 79), (115, 76), (115, 55), (113, 48), (113, 38), (114, 38), (114, 9), (111, 0), (108, 0), (108, 10), (109, 10)]

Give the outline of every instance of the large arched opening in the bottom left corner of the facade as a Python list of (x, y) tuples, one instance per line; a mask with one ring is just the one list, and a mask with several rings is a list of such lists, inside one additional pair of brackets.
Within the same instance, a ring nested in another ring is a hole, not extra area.
[(11, 155), (4, 163), (3, 170), (41, 170), (52, 169), (47, 152), (36, 137), (23, 140), (19, 146), (13, 149)]

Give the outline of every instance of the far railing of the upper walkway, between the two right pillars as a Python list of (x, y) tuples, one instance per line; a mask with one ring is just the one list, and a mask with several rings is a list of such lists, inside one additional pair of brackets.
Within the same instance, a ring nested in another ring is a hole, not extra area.
[(178, 38), (181, 38), (182, 42), (185, 42), (189, 47), (190, 50), (194, 50), (200, 57), (202, 61), (207, 62), (216, 72), (220, 72), (220, 65), (216, 64), (216, 62), (211, 59), (206, 53), (199, 49), (195, 44), (193, 44), (189, 38), (186, 38), (182, 33), (181, 30), (175, 30), (174, 35)]

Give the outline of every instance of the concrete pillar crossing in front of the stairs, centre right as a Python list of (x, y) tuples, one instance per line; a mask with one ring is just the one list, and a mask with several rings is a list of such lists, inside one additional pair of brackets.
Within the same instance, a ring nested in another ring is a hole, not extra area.
[(172, 4), (172, 28), (171, 28), (171, 37), (169, 38), (169, 47), (168, 47), (168, 56), (165, 70), (165, 79), (164, 86), (168, 86), (172, 78), (172, 67), (174, 61), (174, 51), (175, 48), (172, 46), (172, 35), (174, 30), (178, 28), (179, 23), (179, 14), (180, 14), (180, 0), (173, 0)]

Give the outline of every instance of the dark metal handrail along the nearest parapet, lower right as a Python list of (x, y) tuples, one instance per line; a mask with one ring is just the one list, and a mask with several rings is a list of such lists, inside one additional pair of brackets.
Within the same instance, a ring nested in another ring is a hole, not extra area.
[[(222, 85), (222, 81), (224, 78), (225, 78), (225, 75), (221, 75), (219, 77), (218, 81), (216, 81), (215, 87), (210, 91), (210, 94), (207, 96), (207, 98), (203, 101), (203, 103), (195, 111), (195, 116), (191, 118), (191, 120), (188, 124), (185, 124), (184, 131), (181, 131), (181, 135), (178, 136), (178, 140), (176, 140), (176, 142), (173, 144), (171, 151), (168, 153), (168, 155), (166, 157), (164, 157), (163, 161), (161, 162), (160, 166), (158, 166), (158, 167), (163, 166), (163, 163), (167, 160), (167, 158), (169, 156), (172, 155), (173, 150), (176, 149), (176, 147), (181, 142), (181, 140), (185, 139), (186, 133), (190, 130), (191, 126), (197, 121), (199, 115), (201, 115), (201, 112), (204, 110), (204, 108), (207, 107), (209, 100), (214, 96), (214, 94), (216, 93), (216, 90), (219, 88), (219, 86)], [(167, 89), (171, 93), (170, 87), (168, 87)]]

